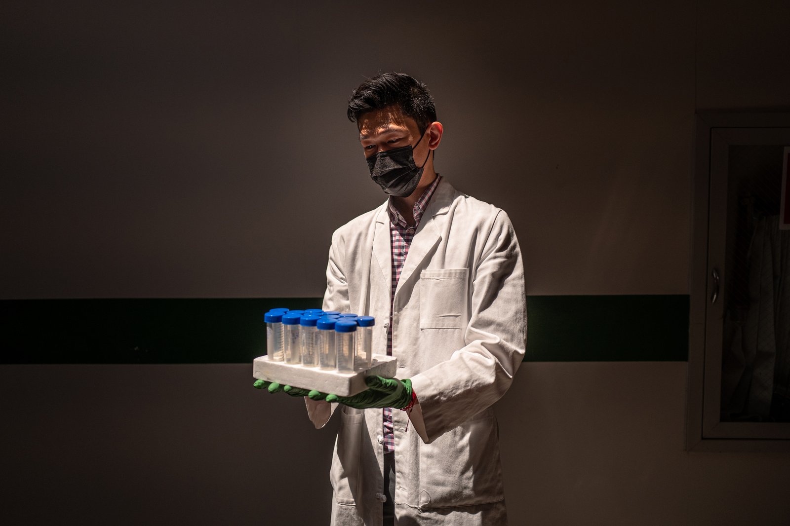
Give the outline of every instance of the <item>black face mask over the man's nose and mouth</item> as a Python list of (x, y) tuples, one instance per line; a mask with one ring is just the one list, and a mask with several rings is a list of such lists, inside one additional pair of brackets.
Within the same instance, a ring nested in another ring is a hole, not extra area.
[[(423, 137), (425, 137), (424, 133)], [(419, 141), (422, 141), (423, 137), (419, 137)], [(417, 167), (414, 163), (414, 148), (419, 145), (419, 141), (414, 146), (393, 148), (367, 158), (371, 178), (382, 187), (384, 193), (397, 197), (412, 195), (419, 184), (419, 178), (423, 176), (423, 167), (428, 162), (428, 156), (431, 156), (429, 149), (423, 166)]]

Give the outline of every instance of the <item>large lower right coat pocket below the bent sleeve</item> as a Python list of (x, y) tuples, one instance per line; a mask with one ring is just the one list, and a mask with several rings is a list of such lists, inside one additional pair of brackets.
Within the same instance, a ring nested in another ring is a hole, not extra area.
[(504, 498), (494, 412), (442, 434), (419, 452), (419, 507), (452, 508)]

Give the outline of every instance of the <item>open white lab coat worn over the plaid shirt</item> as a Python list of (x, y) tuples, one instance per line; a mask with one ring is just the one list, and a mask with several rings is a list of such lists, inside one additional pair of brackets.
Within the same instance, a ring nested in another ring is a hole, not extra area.
[[(325, 310), (376, 317), (386, 352), (390, 299), (387, 203), (335, 231)], [(416, 230), (393, 302), (397, 378), (418, 397), (393, 410), (397, 524), (506, 524), (491, 405), (525, 352), (524, 267), (510, 219), (442, 179)], [(325, 425), (337, 404), (305, 399)], [(330, 480), (332, 524), (382, 524), (382, 410), (340, 405)]]

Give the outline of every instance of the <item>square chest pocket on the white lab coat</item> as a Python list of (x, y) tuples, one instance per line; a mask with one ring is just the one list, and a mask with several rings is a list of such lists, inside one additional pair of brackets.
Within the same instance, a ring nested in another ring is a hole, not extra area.
[(468, 269), (419, 273), (419, 328), (460, 329), (467, 310)]

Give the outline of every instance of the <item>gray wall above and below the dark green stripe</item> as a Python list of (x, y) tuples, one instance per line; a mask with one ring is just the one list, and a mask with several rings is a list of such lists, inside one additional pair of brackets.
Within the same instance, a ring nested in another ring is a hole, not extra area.
[[(790, 106), (788, 19), (712, 0), (6, 7), (0, 298), (321, 295), (331, 231), (382, 201), (344, 103), (386, 70), (431, 88), (438, 171), (510, 213), (530, 294), (687, 294), (694, 111)], [(332, 430), (249, 372), (0, 367), (2, 509), (323, 524)], [(686, 374), (525, 363), (498, 404), (512, 524), (787, 524), (788, 456), (683, 452)]]

